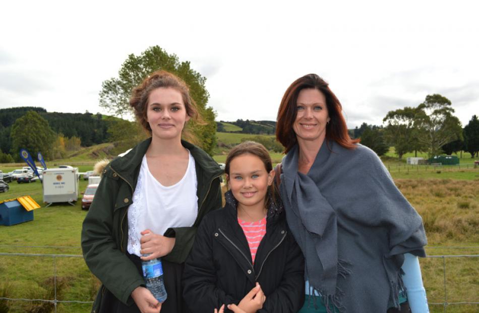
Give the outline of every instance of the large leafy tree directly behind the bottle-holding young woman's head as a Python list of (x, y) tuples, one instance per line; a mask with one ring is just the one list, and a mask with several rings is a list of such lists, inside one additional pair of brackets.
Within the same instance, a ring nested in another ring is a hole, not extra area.
[(190, 94), (198, 105), (198, 110), (205, 120), (205, 125), (191, 123), (193, 133), (198, 137), (198, 144), (208, 153), (216, 146), (215, 113), (206, 104), (209, 93), (206, 90), (206, 78), (191, 69), (189, 61), (179, 61), (175, 54), (168, 54), (159, 46), (152, 46), (140, 55), (130, 54), (121, 69), (118, 78), (111, 78), (102, 83), (100, 106), (116, 116), (132, 113), (129, 99), (132, 90), (151, 73), (165, 70), (182, 78), (190, 88)]

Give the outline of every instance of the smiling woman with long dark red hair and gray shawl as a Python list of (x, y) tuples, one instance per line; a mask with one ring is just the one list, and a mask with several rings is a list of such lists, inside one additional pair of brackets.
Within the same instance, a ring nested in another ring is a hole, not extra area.
[(341, 104), (310, 74), (286, 90), (280, 194), (306, 258), (306, 312), (428, 312), (421, 217), (378, 156), (352, 140)]

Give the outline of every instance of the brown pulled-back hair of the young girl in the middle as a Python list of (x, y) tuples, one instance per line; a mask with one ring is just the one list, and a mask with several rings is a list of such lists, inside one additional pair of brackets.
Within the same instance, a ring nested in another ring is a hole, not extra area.
[[(245, 141), (239, 145), (234, 146), (228, 153), (228, 156), (226, 157), (226, 163), (224, 166), (224, 172), (228, 175), (229, 179), (229, 165), (231, 164), (231, 161), (240, 155), (244, 154), (252, 154), (260, 158), (260, 160), (263, 162), (264, 167), (266, 168), (266, 172), (269, 174), (271, 170), (273, 169), (273, 163), (271, 161), (271, 157), (269, 156), (268, 150), (262, 145), (254, 141)], [(227, 183), (227, 181), (226, 181)], [(265, 201), (265, 206), (267, 209), (269, 209), (270, 206), (270, 201), (271, 199), (273, 201), (276, 201), (276, 191), (274, 188), (274, 180), (271, 183), (270, 186), (268, 186), (268, 191), (270, 193), (270, 197), (268, 195), (266, 196), (266, 201)]]

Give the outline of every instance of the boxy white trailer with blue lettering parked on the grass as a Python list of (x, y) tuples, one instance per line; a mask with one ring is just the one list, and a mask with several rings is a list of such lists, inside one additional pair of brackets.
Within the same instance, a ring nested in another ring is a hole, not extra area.
[(78, 168), (49, 168), (43, 171), (43, 202), (75, 205), (78, 199)]

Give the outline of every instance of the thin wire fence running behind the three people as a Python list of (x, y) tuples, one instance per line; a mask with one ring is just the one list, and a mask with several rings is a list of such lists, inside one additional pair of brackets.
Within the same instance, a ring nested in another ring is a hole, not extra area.
[[(76, 246), (39, 246), (39, 245), (0, 245), (0, 247), (30, 247), (30, 248), (77, 248), (80, 247)], [(479, 249), (479, 246), (431, 246), (427, 247), (428, 249)], [(59, 300), (57, 299), (57, 268), (56, 268), (56, 260), (58, 258), (83, 258), (82, 255), (69, 255), (69, 254), (30, 254), (30, 253), (0, 253), (0, 256), (5, 257), (46, 257), (52, 258), (53, 262), (53, 288), (54, 288), (54, 297), (53, 299), (27, 299), (27, 298), (9, 298), (9, 297), (0, 297), (0, 300), (8, 300), (8, 301), (42, 301), (42, 302), (49, 302), (53, 304), (54, 312), (57, 311), (58, 303), (81, 303), (81, 304), (91, 304), (93, 301), (81, 301), (81, 300)], [(442, 259), (442, 268), (443, 268), (443, 292), (444, 292), (444, 301), (443, 302), (428, 302), (431, 306), (440, 305), (443, 306), (444, 312), (447, 312), (447, 308), (451, 305), (479, 305), (479, 299), (477, 300), (462, 300), (462, 301), (455, 301), (449, 302), (448, 301), (448, 286), (447, 286), (447, 267), (446, 267), (446, 260), (452, 258), (479, 258), (479, 255), (430, 255), (426, 258), (435, 259), (440, 258)], [(478, 259), (479, 260), (479, 259)], [(479, 294), (478, 294), (479, 295)], [(478, 307), (479, 311), (479, 307)]]

